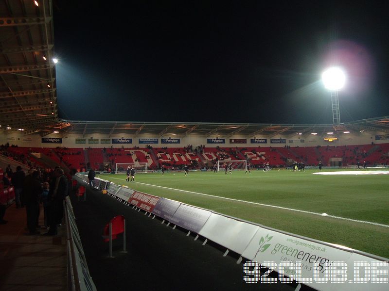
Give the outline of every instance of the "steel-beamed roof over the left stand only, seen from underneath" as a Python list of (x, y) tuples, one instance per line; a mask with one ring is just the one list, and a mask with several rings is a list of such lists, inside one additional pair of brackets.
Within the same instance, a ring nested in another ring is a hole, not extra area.
[(0, 2), (0, 125), (34, 132), (58, 122), (52, 0)]

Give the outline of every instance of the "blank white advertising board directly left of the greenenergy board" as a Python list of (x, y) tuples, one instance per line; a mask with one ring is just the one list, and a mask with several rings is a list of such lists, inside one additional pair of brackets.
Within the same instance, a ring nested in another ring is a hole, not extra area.
[(242, 254), (258, 229), (259, 226), (212, 213), (198, 234)]

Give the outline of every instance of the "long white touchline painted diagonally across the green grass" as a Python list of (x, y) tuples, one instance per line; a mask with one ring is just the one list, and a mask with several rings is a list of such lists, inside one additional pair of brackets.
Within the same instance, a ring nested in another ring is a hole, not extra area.
[[(290, 210), (290, 211), (308, 213), (308, 214), (313, 214), (313, 215), (318, 215), (318, 216), (324, 216), (324, 215), (321, 215), (321, 213), (312, 212), (312, 211), (298, 210), (298, 209), (287, 208), (287, 207), (282, 207), (282, 206), (269, 205), (269, 204), (263, 204), (263, 203), (246, 201), (246, 200), (240, 200), (240, 199), (233, 199), (233, 198), (228, 198), (228, 197), (223, 197), (223, 196), (216, 196), (216, 195), (204, 194), (204, 193), (193, 192), (193, 191), (188, 191), (188, 190), (175, 189), (175, 188), (170, 188), (170, 187), (165, 187), (165, 186), (146, 184), (146, 183), (142, 183), (142, 182), (137, 182), (137, 184), (143, 184), (143, 185), (147, 185), (147, 186), (159, 187), (159, 188), (169, 189), (169, 190), (173, 190), (173, 191), (192, 193), (192, 194), (203, 195), (203, 196), (208, 196), (208, 197), (220, 198), (220, 199), (224, 199), (224, 200), (243, 202), (243, 203), (254, 204), (254, 205), (259, 205), (259, 206), (272, 207), (272, 208), (277, 208), (277, 209), (282, 209), (282, 210)], [(335, 216), (335, 215), (325, 215), (324, 217), (331, 217), (331, 218), (342, 219), (342, 220), (347, 220), (347, 221), (353, 221), (353, 222), (358, 222), (358, 223), (363, 223), (363, 224), (370, 224), (370, 225), (374, 225), (374, 226), (389, 227), (388, 225), (384, 225), (384, 224), (380, 224), (380, 223), (364, 221), (364, 220), (358, 220), (358, 219), (352, 219), (352, 218), (346, 218), (346, 217), (340, 217), (340, 216)]]

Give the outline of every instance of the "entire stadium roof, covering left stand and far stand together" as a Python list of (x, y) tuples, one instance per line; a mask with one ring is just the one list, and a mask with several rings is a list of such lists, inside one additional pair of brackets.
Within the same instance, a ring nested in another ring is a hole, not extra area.
[[(154, 136), (231, 137), (234, 134), (301, 136), (345, 130), (389, 133), (389, 116), (332, 124), (236, 124), (196, 122), (110, 122), (59, 119), (55, 64), (53, 62), (53, 2), (39, 0), (0, 2), (0, 130), (45, 136), (59, 131), (109, 136), (152, 134)], [(10, 128), (10, 129), (7, 129)]]

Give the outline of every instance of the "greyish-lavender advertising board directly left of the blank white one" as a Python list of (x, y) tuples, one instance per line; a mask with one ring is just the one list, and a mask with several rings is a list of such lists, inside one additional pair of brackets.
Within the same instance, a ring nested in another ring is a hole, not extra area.
[(198, 233), (211, 213), (209, 210), (181, 204), (169, 221), (177, 226)]

